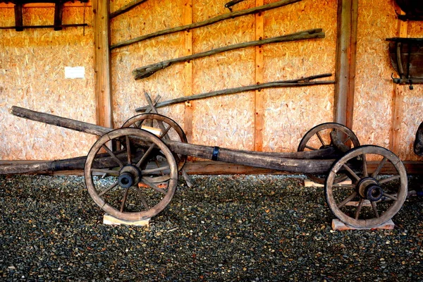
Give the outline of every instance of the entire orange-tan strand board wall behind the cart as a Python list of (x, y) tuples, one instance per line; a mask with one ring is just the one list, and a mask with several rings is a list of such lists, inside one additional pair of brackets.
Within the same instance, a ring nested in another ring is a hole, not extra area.
[[(111, 11), (129, 2), (111, 1)], [(145, 1), (111, 20), (111, 44), (228, 13), (226, 2)], [(246, 0), (234, 10), (252, 8), (259, 2)], [(263, 3), (270, 2), (276, 0)], [(337, 2), (303, 0), (262, 13), (264, 38), (312, 28), (323, 28), (326, 34), (324, 39), (262, 46), (262, 82), (335, 72)], [(393, 0), (359, 1), (353, 130), (362, 144), (390, 146), (396, 85), (391, 81), (395, 71), (385, 39), (398, 37), (396, 10)], [(24, 18), (27, 24), (46, 24), (52, 11), (51, 7), (25, 8)], [(13, 6), (0, 6), (0, 13), (0, 26), (14, 24)], [(8, 114), (8, 109), (17, 105), (95, 123), (92, 13), (90, 6), (81, 4), (68, 5), (63, 11), (66, 23), (84, 20), (90, 25), (85, 32), (82, 27), (56, 32), (0, 30), (0, 159), (77, 157), (94, 143), (90, 135)], [(255, 47), (177, 63), (142, 80), (134, 80), (132, 75), (135, 68), (151, 63), (255, 40), (257, 24), (256, 16), (243, 16), (112, 50), (114, 127), (135, 115), (136, 107), (147, 104), (145, 92), (166, 101), (257, 83)], [(423, 23), (407, 23), (407, 36), (423, 37)], [(65, 66), (84, 66), (85, 78), (65, 79)], [(398, 155), (403, 160), (416, 160), (412, 142), (422, 120), (422, 87), (400, 87), (403, 103)], [(188, 130), (189, 141), (195, 144), (255, 149), (260, 142), (264, 151), (290, 152), (297, 149), (309, 128), (333, 121), (333, 93), (333, 85), (268, 89), (176, 104), (159, 109), (159, 113)], [(257, 97), (263, 102), (260, 136), (255, 130)]]

